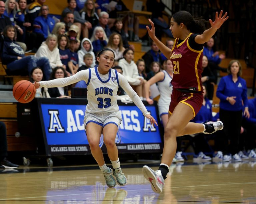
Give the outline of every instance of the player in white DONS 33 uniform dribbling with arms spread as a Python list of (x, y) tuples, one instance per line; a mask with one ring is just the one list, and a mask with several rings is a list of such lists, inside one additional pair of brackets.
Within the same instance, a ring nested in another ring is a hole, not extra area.
[[(64, 87), (81, 80), (86, 82), (88, 89), (88, 104), (86, 105), (84, 116), (86, 135), (91, 153), (103, 172), (108, 187), (114, 187), (116, 181), (120, 186), (127, 184), (127, 179), (121, 170), (118, 149), (115, 144), (118, 127), (122, 121), (117, 105), (119, 85), (139, 107), (144, 116), (150, 120), (151, 124), (157, 125), (156, 120), (148, 113), (139, 96), (128, 84), (125, 77), (117, 73), (116, 70), (110, 69), (113, 65), (114, 57), (113, 51), (105, 48), (99, 52), (96, 58), (96, 63), (99, 64), (98, 68), (82, 70), (67, 78), (34, 84), (35, 88), (38, 89), (41, 87)], [(103, 134), (103, 141), (107, 147), (113, 170), (106, 166), (102, 150), (99, 147), (101, 134)], [(112, 175), (116, 177), (116, 181)]]

